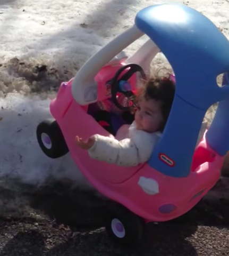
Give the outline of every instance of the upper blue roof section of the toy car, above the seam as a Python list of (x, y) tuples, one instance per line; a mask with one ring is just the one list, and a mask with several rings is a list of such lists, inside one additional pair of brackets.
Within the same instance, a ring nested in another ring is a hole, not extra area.
[(229, 42), (203, 14), (183, 4), (159, 4), (141, 10), (135, 25), (171, 63), (182, 99), (205, 109), (225, 96), (216, 77), (229, 70)]

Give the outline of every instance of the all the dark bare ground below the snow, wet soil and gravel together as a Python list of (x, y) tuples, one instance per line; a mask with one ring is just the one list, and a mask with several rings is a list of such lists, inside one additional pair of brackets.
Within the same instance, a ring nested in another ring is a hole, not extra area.
[(146, 241), (137, 249), (123, 250), (109, 241), (103, 228), (110, 202), (90, 192), (70, 192), (60, 184), (26, 189), (20, 195), (14, 191), (1, 191), (9, 205), (19, 198), (24, 203), (1, 215), (0, 256), (229, 255), (225, 199), (205, 199), (176, 220), (150, 223)]

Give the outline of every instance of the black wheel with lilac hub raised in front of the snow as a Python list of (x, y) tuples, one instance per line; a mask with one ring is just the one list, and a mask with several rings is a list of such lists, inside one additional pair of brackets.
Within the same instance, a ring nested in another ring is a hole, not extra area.
[(55, 119), (47, 119), (37, 126), (37, 140), (42, 151), (50, 158), (58, 158), (69, 152)]

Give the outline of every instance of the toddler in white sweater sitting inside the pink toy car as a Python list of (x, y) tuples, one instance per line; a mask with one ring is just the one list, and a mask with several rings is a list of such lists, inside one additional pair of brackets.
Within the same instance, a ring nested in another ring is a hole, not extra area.
[(152, 77), (138, 93), (138, 107), (131, 125), (123, 125), (115, 137), (95, 134), (87, 141), (76, 137), (76, 145), (91, 158), (121, 166), (135, 166), (149, 160), (167, 122), (175, 94), (174, 82)]

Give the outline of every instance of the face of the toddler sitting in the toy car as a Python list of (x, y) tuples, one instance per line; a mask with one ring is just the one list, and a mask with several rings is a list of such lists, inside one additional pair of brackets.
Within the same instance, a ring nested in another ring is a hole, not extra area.
[(156, 132), (162, 127), (163, 115), (160, 102), (154, 99), (141, 99), (134, 117), (138, 130)]

